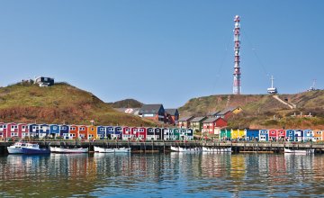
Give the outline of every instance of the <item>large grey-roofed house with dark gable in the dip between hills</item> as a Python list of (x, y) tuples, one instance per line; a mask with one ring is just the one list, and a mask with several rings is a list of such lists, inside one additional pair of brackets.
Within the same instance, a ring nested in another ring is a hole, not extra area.
[(162, 104), (143, 104), (139, 116), (154, 121), (166, 122), (166, 111)]

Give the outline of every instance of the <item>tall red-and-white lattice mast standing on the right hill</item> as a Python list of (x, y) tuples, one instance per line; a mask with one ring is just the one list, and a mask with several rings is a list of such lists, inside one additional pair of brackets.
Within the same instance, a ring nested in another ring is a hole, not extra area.
[(234, 18), (234, 82), (233, 82), (233, 94), (241, 94), (241, 84), (240, 84), (240, 67), (239, 67), (239, 31), (240, 31), (240, 19), (236, 15)]

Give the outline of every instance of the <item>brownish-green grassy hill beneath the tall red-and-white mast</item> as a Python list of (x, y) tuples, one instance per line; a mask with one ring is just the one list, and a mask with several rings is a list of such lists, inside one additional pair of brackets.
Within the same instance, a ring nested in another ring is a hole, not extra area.
[[(220, 94), (193, 98), (180, 107), (181, 116), (206, 115), (229, 106), (240, 106), (242, 113), (229, 119), (231, 128), (311, 128), (324, 130), (324, 91), (311, 91), (301, 94), (279, 94), (280, 103), (270, 94)], [(299, 116), (309, 114), (314, 117)], [(292, 115), (296, 116), (292, 116)]]

